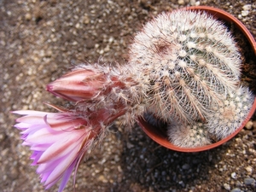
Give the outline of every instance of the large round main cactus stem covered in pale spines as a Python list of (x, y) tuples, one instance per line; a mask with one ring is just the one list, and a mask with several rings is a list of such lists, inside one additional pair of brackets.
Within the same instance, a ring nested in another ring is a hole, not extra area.
[(180, 122), (205, 120), (212, 103), (236, 90), (240, 54), (228, 29), (204, 12), (177, 10), (149, 21), (134, 38), (137, 68), (148, 110)]

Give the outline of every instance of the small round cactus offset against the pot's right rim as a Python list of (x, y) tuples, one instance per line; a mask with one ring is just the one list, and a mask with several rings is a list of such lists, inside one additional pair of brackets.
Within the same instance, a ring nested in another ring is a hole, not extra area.
[(227, 94), (223, 102), (212, 107), (207, 116), (207, 129), (218, 139), (228, 137), (240, 127), (253, 105), (254, 96), (245, 88)]

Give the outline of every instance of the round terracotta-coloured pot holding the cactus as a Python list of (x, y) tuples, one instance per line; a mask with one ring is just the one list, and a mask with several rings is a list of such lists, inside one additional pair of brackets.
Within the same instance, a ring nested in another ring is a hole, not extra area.
[[(244, 26), (241, 23), (241, 21), (237, 20), (236, 17), (234, 17), (233, 15), (230, 15), (229, 13), (225, 12), (224, 10), (216, 9), (216, 8), (212, 8), (212, 7), (207, 7), (207, 6), (188, 7), (188, 8), (184, 8), (184, 9), (195, 10), (195, 11), (199, 11), (199, 10), (205, 11), (208, 14), (213, 15), (218, 20), (223, 20), (224, 22), (233, 22), (236, 25), (236, 27), (238, 29), (240, 29), (241, 32), (243, 32), (243, 34), (245, 35), (247, 40), (250, 42), (250, 44), (252, 45), (252, 49), (254, 50), (254, 53), (256, 55), (256, 42), (253, 38), (253, 35), (247, 30), (247, 27)], [(244, 119), (241, 126), (238, 129), (236, 129), (236, 131), (233, 134), (231, 134), (229, 137), (225, 137), (223, 140), (218, 141), (217, 143), (212, 143), (210, 145), (206, 145), (206, 146), (203, 146), (203, 147), (197, 147), (197, 148), (180, 148), (180, 147), (177, 147), (177, 146), (173, 145), (172, 143), (170, 143), (168, 141), (165, 131), (162, 131), (160, 129), (156, 129), (152, 125), (149, 125), (142, 118), (138, 119), (138, 124), (142, 127), (143, 131), (148, 135), (148, 137), (153, 139), (154, 142), (159, 143), (161, 146), (164, 146), (166, 148), (170, 148), (170, 149), (175, 150), (175, 151), (180, 151), (180, 152), (200, 152), (200, 151), (208, 150), (208, 149), (211, 149), (211, 148), (216, 148), (219, 145), (229, 141), (232, 137), (235, 137), (236, 134), (239, 131), (241, 131), (241, 129), (244, 127), (244, 125), (247, 124), (247, 121), (252, 117), (252, 115), (255, 111), (255, 108), (256, 108), (256, 98), (253, 102), (253, 107), (251, 108), (250, 112), (247, 115), (247, 118)]]

